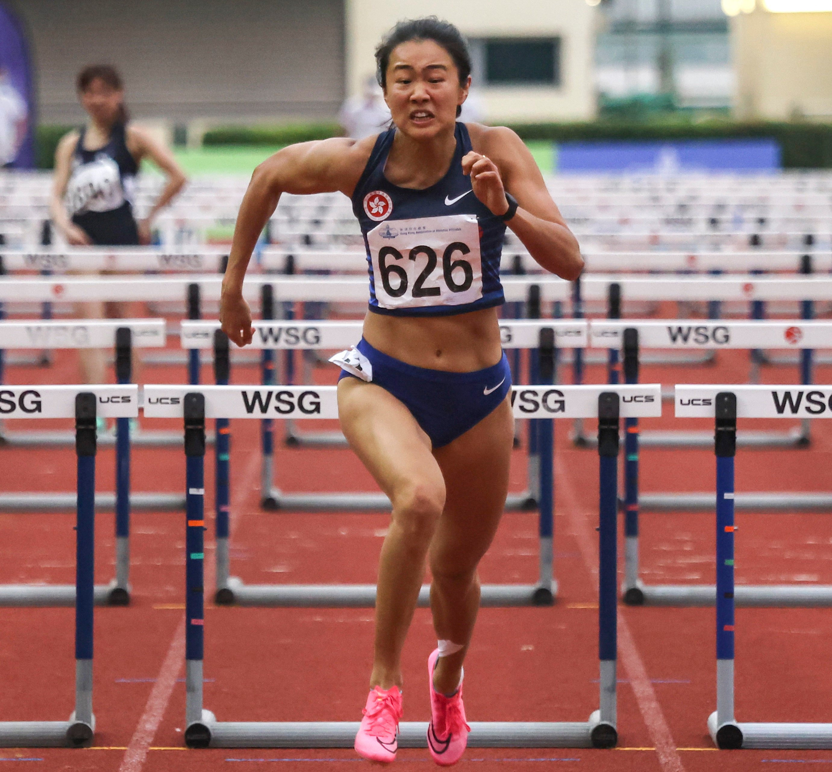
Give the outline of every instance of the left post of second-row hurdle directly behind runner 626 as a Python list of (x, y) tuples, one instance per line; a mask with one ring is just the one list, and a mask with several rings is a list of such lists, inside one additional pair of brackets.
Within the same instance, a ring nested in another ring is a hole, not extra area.
[[(230, 356), (228, 336), (221, 330), (214, 330), (214, 381), (218, 386), (227, 386), (230, 379)], [(234, 594), (228, 587), (230, 536), (230, 420), (215, 419), (215, 508), (216, 508), (216, 593), (217, 603), (233, 603)]]

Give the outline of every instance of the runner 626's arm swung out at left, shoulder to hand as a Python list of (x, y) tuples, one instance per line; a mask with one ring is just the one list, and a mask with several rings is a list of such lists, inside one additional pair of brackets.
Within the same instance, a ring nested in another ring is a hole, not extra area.
[[(344, 137), (301, 142), (276, 152), (255, 169), (237, 214), (220, 300), (222, 329), (238, 346), (250, 344), (254, 334), (249, 304), (243, 299), (245, 270), (266, 221), (277, 208), (280, 195), (351, 193), (350, 171), (353, 167), (358, 168), (351, 152), (354, 146), (354, 140)], [(358, 176), (355, 177), (357, 180)]]

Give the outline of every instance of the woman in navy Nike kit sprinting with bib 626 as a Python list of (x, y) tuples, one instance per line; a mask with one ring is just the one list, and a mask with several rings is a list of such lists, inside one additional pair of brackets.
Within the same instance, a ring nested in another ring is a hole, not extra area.
[(468, 50), (435, 17), (399, 22), (376, 52), (394, 126), (366, 140), (290, 146), (258, 166), (225, 274), (222, 327), (254, 330), (241, 287), (281, 193), (341, 191), (361, 224), (370, 278), (364, 336), (340, 364), (349, 445), (393, 504), (379, 563), (370, 693), (355, 750), (392, 761), (402, 716), (400, 656), (426, 557), (438, 647), (428, 658), (428, 746), (440, 765), (468, 739), (463, 660), (479, 606), (477, 566), (503, 514), (513, 418), (500, 346), (500, 250), (508, 224), (546, 270), (581, 273), (531, 154), (508, 128), (458, 123)]

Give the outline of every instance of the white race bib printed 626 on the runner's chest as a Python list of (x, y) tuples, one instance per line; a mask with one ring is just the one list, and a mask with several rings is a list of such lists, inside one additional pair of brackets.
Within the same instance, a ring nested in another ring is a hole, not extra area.
[(395, 220), (367, 234), (381, 308), (464, 305), (483, 297), (483, 261), (474, 215)]

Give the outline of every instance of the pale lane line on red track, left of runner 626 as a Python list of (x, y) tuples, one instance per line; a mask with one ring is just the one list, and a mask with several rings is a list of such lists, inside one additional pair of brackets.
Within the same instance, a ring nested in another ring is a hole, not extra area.
[[(243, 474), (237, 478), (239, 484), (235, 487), (234, 494), (231, 497), (232, 524), (235, 526), (240, 522), (240, 512), (242, 512), (245, 497), (254, 485), (259, 471), (260, 455), (255, 451), (250, 454)], [(205, 586), (212, 587), (214, 583), (214, 561), (206, 561)], [(162, 662), (159, 675), (156, 676), (156, 683), (153, 685), (151, 695), (147, 698), (145, 710), (141, 714), (136, 731), (131, 737), (130, 745), (127, 745), (127, 750), (125, 751), (124, 758), (121, 760), (121, 766), (118, 768), (118, 772), (141, 772), (145, 765), (147, 751), (150, 750), (153, 738), (156, 737), (156, 731), (159, 729), (161, 720), (165, 716), (167, 705), (171, 701), (171, 694), (173, 693), (174, 686), (176, 686), (176, 679), (179, 678), (184, 664), (185, 616), (183, 615), (179, 624), (176, 626), (176, 632), (173, 634), (171, 646), (168, 647), (165, 661)]]

